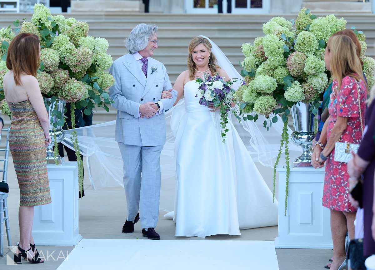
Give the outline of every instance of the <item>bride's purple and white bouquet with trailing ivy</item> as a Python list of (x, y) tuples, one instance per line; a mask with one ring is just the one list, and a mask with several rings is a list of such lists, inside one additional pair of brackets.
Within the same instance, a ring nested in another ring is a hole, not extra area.
[(213, 106), (214, 109), (220, 109), (220, 127), (222, 128), (221, 137), (225, 142), (225, 135), (228, 132), (226, 124), (228, 124), (228, 112), (231, 110), (231, 102), (233, 100), (234, 90), (231, 88), (233, 82), (224, 81), (225, 77), (216, 76), (204, 77), (196, 79), (199, 83), (198, 93), (195, 97), (199, 98), (199, 104), (203, 106)]

